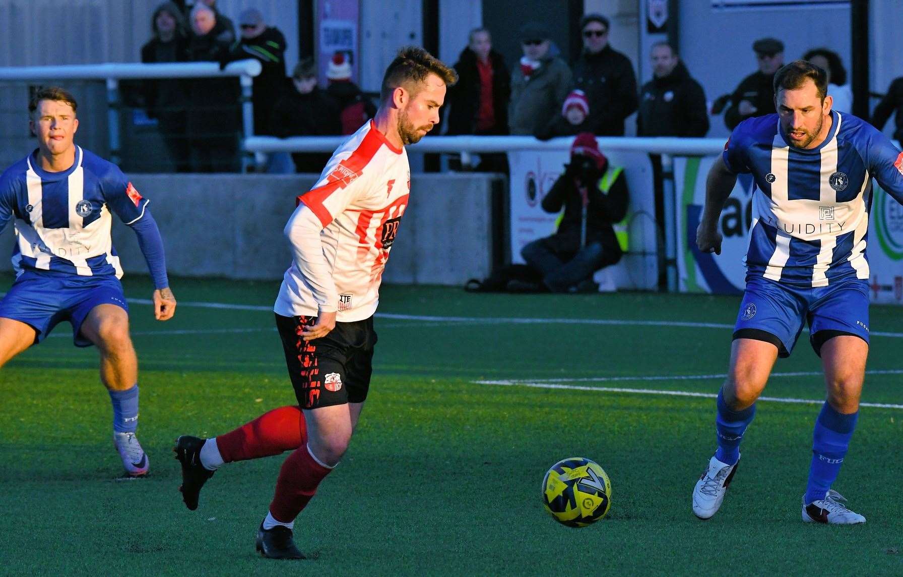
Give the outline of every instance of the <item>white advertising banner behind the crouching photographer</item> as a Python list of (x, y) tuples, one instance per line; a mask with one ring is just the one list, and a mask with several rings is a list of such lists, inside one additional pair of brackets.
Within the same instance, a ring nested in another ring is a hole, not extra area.
[[(604, 150), (602, 152), (605, 152)], [(518, 150), (507, 153), (510, 166), (511, 261), (523, 263), (521, 249), (555, 232), (558, 213), (545, 213), (542, 202), (570, 161), (567, 151)], [(610, 166), (622, 166), (630, 195), (628, 254), (605, 269), (606, 279), (618, 289), (654, 290), (658, 282), (655, 193), (652, 165), (645, 153), (605, 152)]]

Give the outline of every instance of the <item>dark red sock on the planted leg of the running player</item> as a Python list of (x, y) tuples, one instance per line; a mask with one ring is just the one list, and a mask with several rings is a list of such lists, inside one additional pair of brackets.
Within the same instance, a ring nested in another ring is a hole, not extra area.
[(280, 523), (291, 523), (317, 492), (320, 481), (330, 474), (331, 468), (323, 467), (313, 459), (307, 445), (285, 459), (279, 470), (270, 514)]

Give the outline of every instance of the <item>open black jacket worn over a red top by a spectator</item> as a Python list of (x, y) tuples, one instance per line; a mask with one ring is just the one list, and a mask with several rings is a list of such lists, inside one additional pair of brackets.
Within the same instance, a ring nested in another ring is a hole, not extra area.
[[(511, 98), (510, 72), (505, 65), (505, 58), (499, 52), (489, 52), (489, 62), (492, 64), (492, 109), (495, 111), (496, 124), (484, 134), (507, 134), (507, 105)], [(476, 134), (481, 86), (477, 55), (470, 48), (465, 48), (454, 69), (458, 72), (458, 83), (448, 93), (447, 134)]]

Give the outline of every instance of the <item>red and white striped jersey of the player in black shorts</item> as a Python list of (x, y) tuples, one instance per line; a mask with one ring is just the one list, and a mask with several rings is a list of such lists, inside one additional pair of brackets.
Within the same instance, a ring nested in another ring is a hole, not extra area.
[(312, 190), (298, 197), (322, 224), (322, 252), (336, 289), (330, 300), (337, 302), (318, 304), (310, 279), (293, 261), (275, 312), (294, 317), (336, 310), (340, 322), (372, 316), (410, 190), (405, 148), (393, 146), (368, 121), (336, 149)]

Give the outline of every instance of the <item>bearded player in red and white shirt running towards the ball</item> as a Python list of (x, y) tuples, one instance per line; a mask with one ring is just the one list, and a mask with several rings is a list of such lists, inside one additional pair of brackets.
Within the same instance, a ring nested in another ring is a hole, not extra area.
[(265, 557), (303, 559), (294, 519), (340, 461), (370, 383), (379, 283), (411, 192), (405, 145), (439, 123), (451, 68), (423, 48), (398, 52), (383, 77), (376, 118), (332, 155), (285, 225), (292, 266), (275, 303), (276, 326), (299, 406), (269, 411), (216, 438), (176, 440), (182, 500), (224, 463), (293, 451), (257, 531)]

